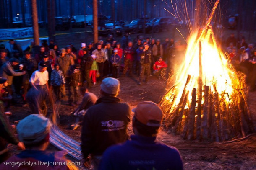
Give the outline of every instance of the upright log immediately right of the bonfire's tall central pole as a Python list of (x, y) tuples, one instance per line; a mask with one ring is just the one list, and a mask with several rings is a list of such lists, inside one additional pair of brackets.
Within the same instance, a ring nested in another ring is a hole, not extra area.
[(203, 112), (203, 121), (202, 121), (202, 137), (204, 139), (208, 138), (209, 126), (208, 126), (208, 114), (209, 114), (209, 86), (204, 86), (204, 112)]

